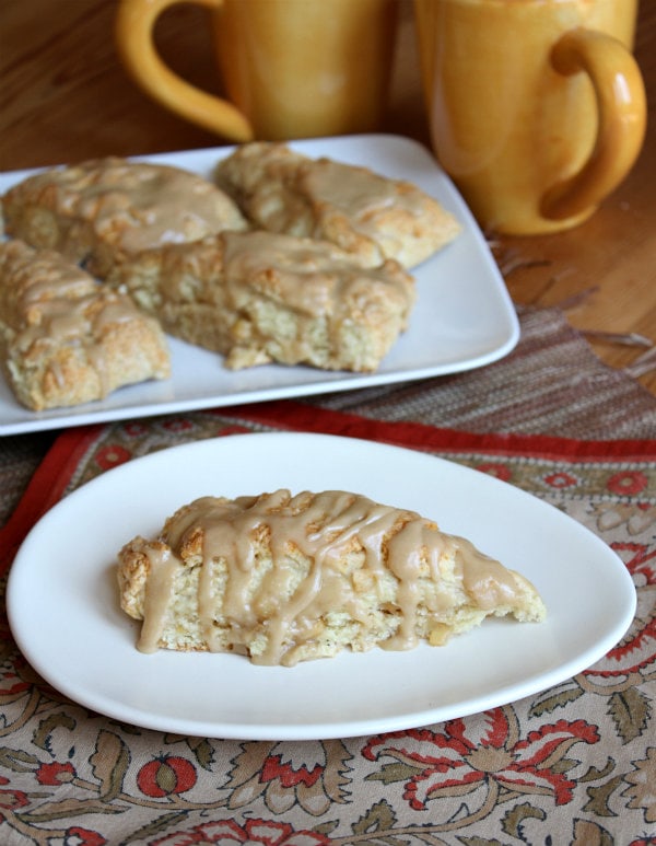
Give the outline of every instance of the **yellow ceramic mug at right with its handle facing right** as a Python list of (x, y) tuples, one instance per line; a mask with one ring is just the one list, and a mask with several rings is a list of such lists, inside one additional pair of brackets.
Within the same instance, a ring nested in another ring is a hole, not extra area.
[(479, 222), (588, 218), (644, 140), (637, 0), (414, 0), (435, 153)]

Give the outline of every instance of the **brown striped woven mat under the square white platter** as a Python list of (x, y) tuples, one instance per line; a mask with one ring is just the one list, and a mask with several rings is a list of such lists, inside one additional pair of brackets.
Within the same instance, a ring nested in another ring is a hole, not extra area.
[[(327, 394), (313, 406), (373, 419), (421, 420), (470, 432), (555, 434), (581, 440), (656, 438), (656, 397), (606, 367), (560, 309), (518, 309), (509, 356), (465, 373)], [(50, 443), (50, 433), (0, 439), (0, 525)]]

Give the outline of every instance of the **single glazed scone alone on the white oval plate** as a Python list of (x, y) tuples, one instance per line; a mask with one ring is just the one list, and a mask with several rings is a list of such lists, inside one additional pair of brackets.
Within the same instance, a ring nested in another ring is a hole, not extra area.
[(413, 511), (347, 491), (202, 497), (118, 554), (138, 648), (236, 652), (294, 665), (411, 649), (485, 617), (539, 622), (535, 587)]

